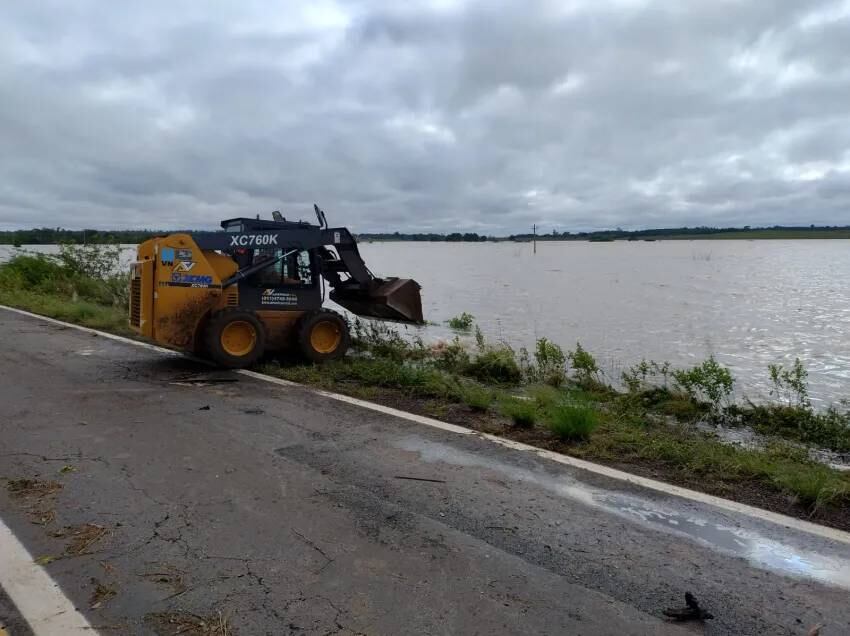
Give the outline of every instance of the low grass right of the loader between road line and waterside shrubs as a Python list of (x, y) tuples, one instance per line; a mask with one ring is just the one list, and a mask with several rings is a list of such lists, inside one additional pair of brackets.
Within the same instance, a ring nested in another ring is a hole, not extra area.
[[(792, 498), (807, 515), (817, 515), (828, 506), (850, 505), (850, 473), (810, 460), (805, 448), (781, 441), (763, 450), (731, 446), (686, 422), (659, 417), (663, 412), (647, 408), (641, 400), (623, 395), (611, 398), (574, 385), (532, 385), (517, 395), (465, 384), (445, 372), (402, 372), (398, 367), (353, 358), (323, 366), (272, 363), (262, 370), (358, 397), (364, 395), (361, 383), (371, 382), (373, 389), (380, 386), (408, 397), (421, 397), (419, 410), (431, 417), (445, 417), (452, 405), (466, 405), (471, 413), (487, 412), (504, 418), (502, 434), (507, 437), (513, 437), (516, 431), (519, 439), (528, 440), (530, 435), (532, 442), (583, 459), (655, 467), (676, 477), (674, 481), (679, 483), (733, 498), (738, 484), (759, 484), (767, 492)], [(365, 369), (368, 372), (364, 373)], [(370, 399), (389, 405), (394, 400), (392, 394), (381, 391), (371, 393)], [(653, 403), (678, 405), (684, 400), (671, 394)], [(415, 404), (408, 406), (416, 409)], [(687, 411), (689, 417), (698, 412)], [(454, 421), (477, 425), (462, 417)]]

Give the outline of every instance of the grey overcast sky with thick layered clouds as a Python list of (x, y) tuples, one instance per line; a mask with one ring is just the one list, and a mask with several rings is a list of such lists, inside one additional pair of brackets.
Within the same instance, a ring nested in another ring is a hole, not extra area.
[(0, 228), (850, 224), (850, 1), (0, 7)]

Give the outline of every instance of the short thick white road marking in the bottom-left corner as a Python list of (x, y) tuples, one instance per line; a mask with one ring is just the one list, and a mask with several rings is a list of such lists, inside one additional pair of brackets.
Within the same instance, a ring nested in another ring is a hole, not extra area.
[(0, 519), (0, 587), (36, 636), (97, 634)]

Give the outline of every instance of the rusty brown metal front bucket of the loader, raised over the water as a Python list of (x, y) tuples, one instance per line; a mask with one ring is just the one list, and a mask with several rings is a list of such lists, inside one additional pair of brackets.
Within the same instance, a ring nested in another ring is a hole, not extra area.
[(369, 289), (337, 287), (331, 300), (358, 316), (422, 324), (419, 283), (410, 278), (377, 278)]

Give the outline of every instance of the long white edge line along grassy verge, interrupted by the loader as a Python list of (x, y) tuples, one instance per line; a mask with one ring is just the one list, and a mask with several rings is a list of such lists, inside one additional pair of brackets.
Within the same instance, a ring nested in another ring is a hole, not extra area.
[[(148, 344), (146, 342), (139, 342), (138, 340), (132, 340), (130, 338), (124, 338), (123, 336), (116, 336), (113, 334), (105, 333), (102, 331), (97, 331), (95, 329), (89, 329), (88, 327), (81, 327), (79, 325), (74, 325), (67, 322), (62, 322), (61, 320), (56, 320), (54, 318), (47, 318), (46, 316), (40, 316), (38, 314), (33, 314), (28, 311), (23, 311), (21, 309), (16, 309), (14, 307), (7, 307), (5, 305), (0, 305), (0, 308), (7, 309), (9, 311), (13, 311), (15, 313), (19, 313), (25, 316), (31, 316), (33, 318), (38, 318), (40, 320), (45, 320), (47, 322), (63, 325), (66, 327), (71, 327), (73, 329), (79, 329), (81, 331), (85, 331), (88, 333), (96, 333), (98, 335), (104, 336), (106, 338), (111, 338), (113, 340), (117, 340), (119, 342), (125, 342), (128, 344), (132, 344), (139, 347), (145, 347), (147, 349), (151, 349), (154, 351), (161, 351), (171, 355), (175, 355), (176, 352), (171, 349), (165, 349), (163, 347), (158, 347), (156, 345)], [(179, 355), (179, 354), (176, 354)], [(374, 404), (373, 402), (367, 402), (365, 400), (359, 400), (357, 398), (349, 397), (347, 395), (340, 395), (339, 393), (332, 393), (330, 391), (324, 391), (321, 389), (314, 389), (312, 387), (298, 384), (297, 382), (291, 382), (289, 380), (282, 380), (280, 378), (275, 378), (268, 375), (263, 375), (262, 373), (257, 373), (256, 371), (247, 371), (240, 370), (237, 371), (241, 375), (248, 376), (250, 378), (254, 378), (256, 380), (260, 380), (262, 382), (269, 382), (271, 384), (277, 384), (278, 386), (286, 386), (286, 387), (298, 387), (300, 389), (312, 391), (317, 395), (321, 395), (322, 397), (326, 397), (331, 400), (337, 400), (339, 402), (345, 402), (347, 404), (353, 404), (355, 406), (359, 406), (365, 409), (369, 409), (371, 411), (376, 411), (378, 413), (384, 413), (386, 415), (391, 415), (393, 417), (398, 417), (401, 419), (408, 420), (410, 422), (416, 422), (417, 424), (423, 424), (425, 426), (430, 426), (432, 428), (440, 429), (442, 431), (447, 431), (450, 433), (455, 433), (459, 435), (475, 435), (482, 439), (486, 439), (494, 444), (499, 444), (500, 446), (505, 446), (506, 448), (510, 448), (516, 451), (522, 451), (527, 453), (532, 453), (537, 455), (538, 457), (542, 457), (547, 460), (551, 460), (553, 462), (558, 462), (559, 464), (563, 464), (566, 466), (571, 466), (573, 468), (578, 468), (580, 470), (585, 470), (587, 472), (602, 475), (604, 477), (609, 477), (611, 479), (616, 479), (619, 481), (623, 481), (629, 484), (634, 484), (636, 486), (640, 486), (642, 488), (647, 488), (649, 490), (654, 490), (657, 492), (664, 493), (666, 495), (673, 495), (675, 497), (680, 497), (682, 499), (688, 499), (690, 501), (695, 501), (702, 504), (707, 504), (710, 506), (714, 506), (715, 508), (720, 508), (721, 510), (726, 510), (728, 512), (732, 512), (735, 514), (745, 515), (747, 517), (751, 517), (753, 519), (759, 519), (761, 521), (767, 521), (769, 523), (773, 523), (779, 526), (783, 526), (786, 528), (793, 528), (794, 530), (798, 530), (800, 532), (805, 532), (810, 535), (823, 537), (825, 539), (830, 539), (832, 541), (840, 541), (842, 543), (850, 544), (850, 532), (845, 532), (843, 530), (838, 530), (836, 528), (828, 528), (827, 526), (822, 526), (816, 523), (812, 523), (810, 521), (805, 521), (803, 519), (797, 519), (795, 517), (789, 517), (787, 515), (782, 515), (776, 512), (771, 512), (769, 510), (763, 510), (761, 508), (756, 508), (754, 506), (748, 506), (747, 504), (738, 503), (737, 501), (731, 501), (729, 499), (723, 499), (721, 497), (715, 497), (714, 495), (708, 495), (706, 493), (698, 492), (696, 490), (689, 490), (688, 488), (681, 488), (680, 486), (674, 486), (672, 484), (665, 483), (663, 481), (657, 481), (655, 479), (649, 479), (648, 477), (641, 477), (640, 475), (633, 475), (631, 473), (624, 472), (622, 470), (617, 470), (615, 468), (610, 468), (608, 466), (603, 466), (602, 464), (594, 464), (593, 462), (589, 462), (583, 459), (578, 459), (575, 457), (570, 457), (569, 455), (562, 455), (560, 453), (554, 453), (552, 451), (543, 450), (540, 448), (536, 448), (534, 446), (529, 446), (528, 444), (523, 444), (521, 442), (515, 442), (510, 439), (505, 439), (503, 437), (498, 437), (496, 435), (490, 435), (487, 433), (479, 433), (478, 431), (474, 431), (472, 429), (464, 428), (462, 426), (457, 426), (456, 424), (448, 424), (447, 422), (441, 422), (439, 420), (435, 420), (430, 417), (425, 417), (422, 415), (416, 415), (414, 413), (408, 413), (406, 411), (400, 411), (398, 409), (391, 408), (389, 406), (382, 406), (380, 404)]]

